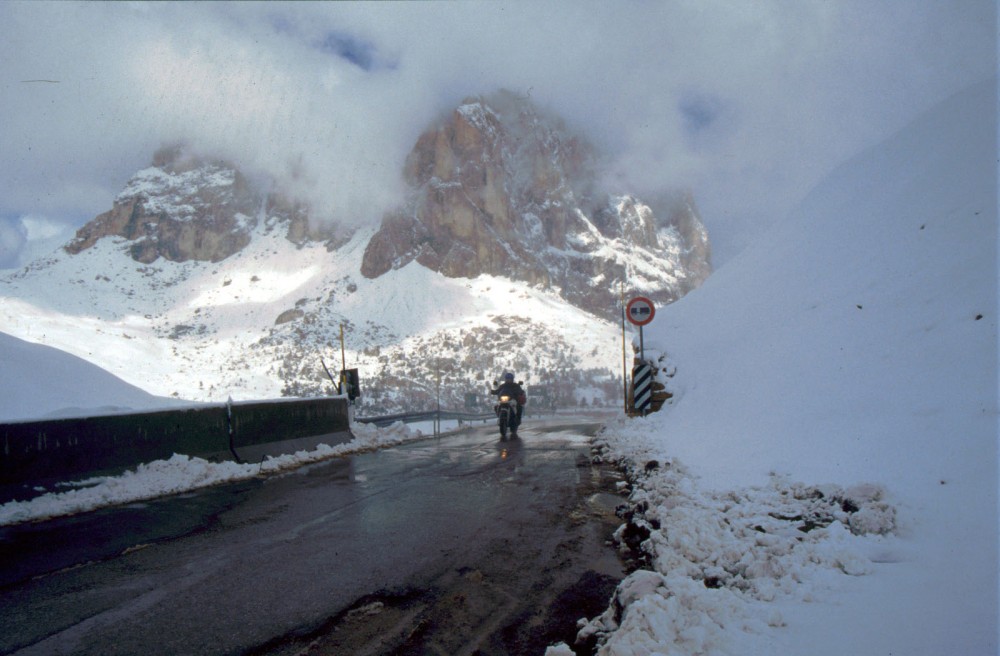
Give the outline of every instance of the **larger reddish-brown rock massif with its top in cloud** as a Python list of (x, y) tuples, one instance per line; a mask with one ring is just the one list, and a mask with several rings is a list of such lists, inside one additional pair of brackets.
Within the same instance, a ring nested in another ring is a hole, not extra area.
[(417, 140), (409, 200), (383, 219), (361, 272), (375, 278), (416, 260), (449, 277), (559, 288), (598, 314), (614, 308), (623, 279), (664, 303), (700, 284), (710, 253), (690, 195), (654, 212), (600, 191), (598, 173), (593, 148), (527, 99), (468, 99)]

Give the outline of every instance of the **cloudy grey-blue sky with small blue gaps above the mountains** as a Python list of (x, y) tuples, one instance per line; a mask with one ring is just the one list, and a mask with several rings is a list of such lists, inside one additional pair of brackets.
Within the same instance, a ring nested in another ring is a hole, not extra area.
[(993, 0), (6, 2), (0, 267), (68, 239), (180, 139), (377, 221), (428, 123), (500, 87), (597, 144), (623, 190), (690, 188), (724, 262), (837, 164), (995, 75), (996, 33)]

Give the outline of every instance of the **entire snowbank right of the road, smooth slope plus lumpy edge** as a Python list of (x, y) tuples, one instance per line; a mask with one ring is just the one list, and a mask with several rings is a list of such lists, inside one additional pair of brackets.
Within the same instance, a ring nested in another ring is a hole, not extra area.
[(996, 117), (947, 100), (657, 314), (676, 396), (608, 439), (664, 465), (661, 574), (606, 653), (996, 653)]

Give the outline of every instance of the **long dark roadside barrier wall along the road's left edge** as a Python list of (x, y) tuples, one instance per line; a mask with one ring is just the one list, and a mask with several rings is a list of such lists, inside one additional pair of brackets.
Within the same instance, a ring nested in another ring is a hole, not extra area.
[(347, 399), (318, 397), (206, 403), (0, 423), (0, 503), (38, 496), (70, 478), (118, 475), (175, 453), (206, 460), (259, 461), (350, 433)]

